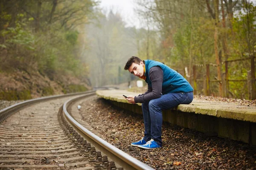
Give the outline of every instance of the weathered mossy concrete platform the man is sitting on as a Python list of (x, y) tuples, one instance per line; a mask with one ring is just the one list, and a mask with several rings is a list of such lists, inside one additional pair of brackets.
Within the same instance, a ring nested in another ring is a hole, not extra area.
[[(142, 114), (141, 104), (130, 104), (122, 95), (137, 96), (126, 90), (96, 91), (99, 97), (114, 105)], [(201, 132), (215, 132), (219, 137), (256, 145), (256, 107), (225, 102), (194, 99), (189, 105), (179, 105), (163, 111), (163, 120)]]

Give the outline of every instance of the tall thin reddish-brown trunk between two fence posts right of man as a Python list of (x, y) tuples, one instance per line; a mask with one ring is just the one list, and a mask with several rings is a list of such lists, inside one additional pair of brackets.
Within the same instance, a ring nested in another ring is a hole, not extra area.
[[(218, 74), (218, 79), (221, 80), (221, 63), (220, 63), (220, 58), (218, 55), (218, 4), (219, 0), (214, 0), (214, 7), (215, 7), (215, 33), (214, 33), (214, 50), (215, 50), (215, 59), (216, 59), (216, 64), (217, 64), (217, 74)], [(219, 95), (222, 95), (222, 87), (221, 84), (219, 84)]]

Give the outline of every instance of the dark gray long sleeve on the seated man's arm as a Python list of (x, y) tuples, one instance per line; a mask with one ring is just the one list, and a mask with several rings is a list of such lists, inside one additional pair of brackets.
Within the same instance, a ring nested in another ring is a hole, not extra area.
[(134, 97), (135, 103), (144, 103), (145, 101), (150, 101), (151, 99), (157, 99), (162, 93), (163, 84), (163, 70), (159, 66), (154, 66), (150, 68), (148, 73), (149, 79), (152, 82), (152, 86), (148, 85), (148, 91), (144, 94)]

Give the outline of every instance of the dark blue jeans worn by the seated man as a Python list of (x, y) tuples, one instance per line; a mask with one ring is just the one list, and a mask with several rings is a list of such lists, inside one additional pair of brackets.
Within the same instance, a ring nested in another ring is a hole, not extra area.
[(193, 100), (193, 92), (164, 94), (158, 99), (142, 103), (145, 126), (144, 140), (154, 139), (162, 146), (162, 111), (175, 108), (180, 104), (189, 104)]

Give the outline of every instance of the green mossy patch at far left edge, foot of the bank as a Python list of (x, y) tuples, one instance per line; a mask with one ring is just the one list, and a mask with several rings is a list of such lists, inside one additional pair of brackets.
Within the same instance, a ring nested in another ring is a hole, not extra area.
[(27, 100), (32, 99), (29, 90), (17, 91), (17, 90), (9, 90), (9, 91), (1, 91), (0, 92), (1, 100)]

